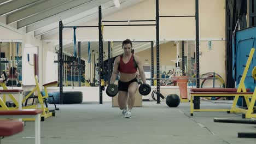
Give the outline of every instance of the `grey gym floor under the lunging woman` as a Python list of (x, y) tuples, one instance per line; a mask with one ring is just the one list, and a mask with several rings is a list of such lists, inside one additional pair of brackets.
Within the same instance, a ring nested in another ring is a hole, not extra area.
[[(111, 103), (58, 105), (56, 117), (41, 122), (41, 143), (254, 143), (255, 139), (238, 138), (237, 132), (255, 132), (255, 125), (214, 123), (213, 118), (241, 118), (225, 112), (195, 112), (190, 117), (189, 104), (167, 107), (164, 101), (143, 101), (134, 107), (132, 118), (121, 116)], [(201, 100), (201, 107), (228, 109), (231, 104)], [(53, 105), (50, 105), (53, 107)], [(2, 143), (34, 143), (34, 123), (26, 122), (22, 133), (5, 137)]]

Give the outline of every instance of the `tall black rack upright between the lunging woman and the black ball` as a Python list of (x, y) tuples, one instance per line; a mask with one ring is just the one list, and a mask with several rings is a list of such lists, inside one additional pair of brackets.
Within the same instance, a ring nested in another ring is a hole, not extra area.
[(160, 69), (159, 69), (159, 0), (156, 0), (156, 94), (157, 94), (157, 104), (160, 104)]

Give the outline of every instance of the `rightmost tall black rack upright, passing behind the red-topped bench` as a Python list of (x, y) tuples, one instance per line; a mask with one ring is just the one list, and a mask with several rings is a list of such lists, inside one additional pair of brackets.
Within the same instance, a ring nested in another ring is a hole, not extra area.
[[(195, 20), (196, 20), (196, 88), (200, 86), (199, 73), (199, 0), (195, 0)], [(200, 109), (199, 97), (194, 97), (194, 109)]]

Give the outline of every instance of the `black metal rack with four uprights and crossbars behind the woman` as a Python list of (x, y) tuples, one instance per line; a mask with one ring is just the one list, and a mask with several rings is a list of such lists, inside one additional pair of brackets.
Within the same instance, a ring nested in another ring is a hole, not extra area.
[[(159, 15), (159, 0), (156, 0), (156, 20), (125, 20), (125, 21), (102, 21), (102, 11), (101, 6), (98, 7), (98, 26), (77, 26), (77, 28), (88, 28), (88, 27), (98, 27), (99, 32), (99, 74), (100, 74), (100, 83), (103, 79), (103, 44), (102, 44), (102, 22), (139, 22), (139, 21), (155, 21), (155, 24), (131, 24), (131, 25), (104, 25), (104, 26), (156, 26), (156, 94), (157, 94), (157, 103), (160, 104), (160, 60), (159, 60), (159, 17), (195, 17), (196, 19), (196, 77), (199, 78), (199, 0), (195, 0), (195, 16), (194, 15), (180, 15), (180, 16), (168, 16), (168, 15)], [(63, 103), (62, 93), (63, 93), (63, 85), (62, 85), (62, 67), (63, 67), (63, 58), (62, 58), (62, 29), (63, 28), (72, 28), (72, 26), (63, 27), (62, 22), (60, 21), (60, 51), (59, 51), (59, 67), (60, 67), (60, 104)], [(152, 44), (152, 50), (153, 50), (153, 42), (152, 41), (137, 41), (137, 42), (150, 42)], [(152, 63), (154, 63), (154, 57), (152, 54)], [(154, 65), (152, 67), (152, 74), (154, 73)], [(154, 75), (154, 74), (153, 74)], [(152, 75), (152, 76), (153, 76)], [(102, 104), (102, 89), (100, 86), (100, 104)], [(199, 79), (196, 80), (196, 87), (199, 88)], [(194, 99), (194, 109), (199, 109), (199, 99)], [(198, 103), (198, 104), (197, 104)]]

